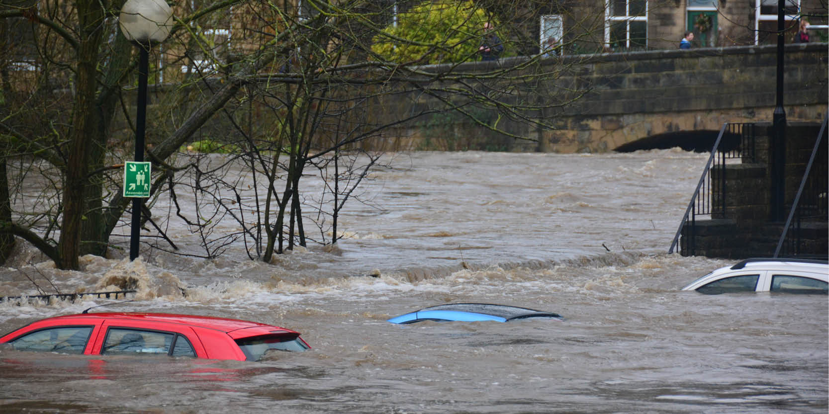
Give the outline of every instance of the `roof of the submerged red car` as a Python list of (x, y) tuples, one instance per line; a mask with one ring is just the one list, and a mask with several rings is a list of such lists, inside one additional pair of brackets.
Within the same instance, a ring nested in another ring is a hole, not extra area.
[[(264, 333), (273, 332), (274, 330), (279, 330), (280, 332), (295, 332), (293, 330), (287, 330), (285, 328), (274, 326), (274, 325), (267, 325), (267, 324), (260, 324), (258, 322), (251, 322), (250, 320), (238, 320), (238, 319), (229, 319), (229, 318), (220, 318), (216, 316), (200, 316), (200, 315), (178, 315), (178, 314), (165, 314), (165, 313), (145, 313), (145, 312), (100, 312), (100, 313), (87, 313), (87, 314), (77, 314), (77, 315), (62, 315), (62, 316), (55, 316), (52, 318), (47, 318), (48, 320), (60, 320), (63, 318), (89, 318), (90, 320), (99, 320), (99, 319), (123, 319), (123, 320), (143, 320), (149, 322), (168, 322), (174, 324), (182, 324), (182, 325), (189, 325), (189, 326), (199, 326), (202, 328), (207, 328), (211, 330), (221, 330), (222, 332), (229, 333), (234, 330), (243, 330), (249, 328), (259, 328)], [(250, 330), (254, 331), (254, 330)]]

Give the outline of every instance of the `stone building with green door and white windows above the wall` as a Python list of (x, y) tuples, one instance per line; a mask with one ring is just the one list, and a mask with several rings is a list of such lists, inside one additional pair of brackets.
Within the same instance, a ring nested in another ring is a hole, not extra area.
[[(827, 7), (820, 0), (786, 0), (787, 43), (806, 18), (816, 40), (827, 38)], [(555, 2), (525, 30), (564, 39), (565, 53), (672, 49), (685, 31), (693, 46), (723, 47), (775, 43), (777, 0), (590, 0)], [(529, 22), (528, 22), (529, 23)], [(535, 27), (533, 27), (535, 26)], [(598, 27), (595, 31), (592, 28)], [(591, 28), (586, 30), (585, 28)]]

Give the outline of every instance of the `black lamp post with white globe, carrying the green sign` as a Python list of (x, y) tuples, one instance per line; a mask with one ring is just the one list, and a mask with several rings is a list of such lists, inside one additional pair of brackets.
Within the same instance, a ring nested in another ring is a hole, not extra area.
[[(138, 108), (135, 117), (135, 161), (144, 161), (144, 126), (147, 118), (147, 73), (149, 50), (167, 39), (172, 10), (162, 0), (127, 0), (119, 16), (121, 32), (138, 46)], [(147, 177), (149, 179), (149, 177)], [(129, 238), (129, 260), (138, 258), (141, 237), (141, 198), (133, 198), (133, 224)]]

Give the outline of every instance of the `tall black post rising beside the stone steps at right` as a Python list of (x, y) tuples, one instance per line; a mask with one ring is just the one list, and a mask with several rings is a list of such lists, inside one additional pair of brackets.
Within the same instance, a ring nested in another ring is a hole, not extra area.
[(778, 0), (777, 103), (773, 115), (771, 145), (771, 219), (783, 221), (786, 206), (786, 110), (783, 109), (783, 31), (786, 1)]

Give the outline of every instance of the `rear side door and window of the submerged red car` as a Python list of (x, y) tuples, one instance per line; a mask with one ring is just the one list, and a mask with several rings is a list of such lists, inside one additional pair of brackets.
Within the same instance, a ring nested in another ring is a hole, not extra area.
[(104, 320), (92, 353), (206, 358), (201, 340), (187, 325), (118, 318)]

